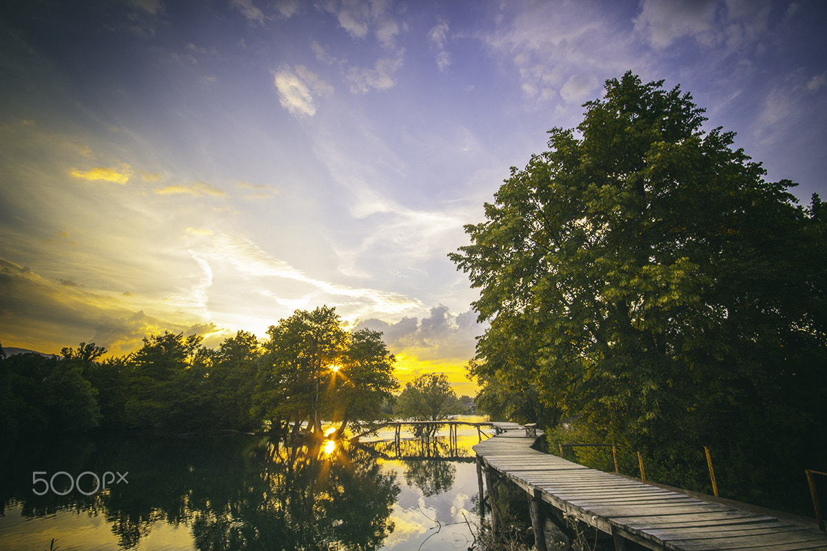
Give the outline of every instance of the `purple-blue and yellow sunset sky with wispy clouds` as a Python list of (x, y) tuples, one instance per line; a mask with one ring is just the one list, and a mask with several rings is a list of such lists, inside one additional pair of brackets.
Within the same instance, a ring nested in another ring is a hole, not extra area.
[(7, 0), (0, 342), (217, 346), (335, 306), (407, 382), (485, 331), (467, 245), (512, 166), (631, 70), (827, 195), (817, 0)]

